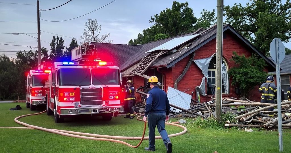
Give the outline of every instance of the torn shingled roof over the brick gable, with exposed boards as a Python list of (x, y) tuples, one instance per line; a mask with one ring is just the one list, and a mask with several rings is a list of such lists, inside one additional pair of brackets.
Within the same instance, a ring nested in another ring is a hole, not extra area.
[[(243, 36), (241, 36), (233, 27), (230, 26), (230, 24), (225, 24), (223, 26), (223, 31), (230, 30), (232, 31), (238, 38), (240, 38), (241, 41), (246, 43), (247, 46), (249, 46), (252, 50), (254, 50), (260, 57), (265, 59), (267, 61), (267, 64), (270, 68), (270, 70), (274, 70), (276, 68), (276, 65), (270, 61), (265, 55), (263, 55), (261, 52), (259, 52), (249, 41), (246, 40)], [(176, 48), (178, 51), (174, 50), (174, 52), (168, 53), (166, 55), (163, 55), (156, 59), (150, 67), (171, 67), (181, 59), (187, 57), (189, 54), (194, 52), (195, 50), (199, 49), (212, 39), (216, 38), (216, 25), (208, 28), (208, 29), (198, 29), (195, 32), (191, 32), (184, 35), (174, 36), (166, 39), (162, 39), (159, 41), (154, 41), (150, 43), (143, 44), (142, 48), (137, 51), (129, 60), (127, 60), (121, 67), (121, 71), (127, 71), (127, 69), (132, 69), (136, 67), (136, 63), (139, 63), (143, 57), (146, 55), (149, 55), (148, 51), (154, 51), (155, 48), (159, 48), (159, 46), (162, 46), (164, 43), (167, 43), (175, 38), (184, 37), (184, 36), (191, 36), (191, 35), (197, 35), (193, 37), (194, 39), (189, 40), (186, 43), (180, 44), (180, 48)], [(187, 48), (184, 48), (184, 45), (187, 44)], [(183, 48), (181, 48), (183, 47)], [(128, 71), (129, 72), (129, 71)]]

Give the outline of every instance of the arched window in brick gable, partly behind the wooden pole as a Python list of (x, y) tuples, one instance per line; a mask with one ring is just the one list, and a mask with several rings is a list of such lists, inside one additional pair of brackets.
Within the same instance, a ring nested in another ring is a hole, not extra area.
[[(228, 66), (226, 65), (226, 62), (224, 61), (224, 59), (222, 60), (222, 64), (223, 63), (225, 64), (226, 69), (228, 69)], [(210, 64), (208, 66), (208, 81), (207, 81), (208, 85), (215, 86), (215, 77), (216, 77), (215, 69), (216, 69), (216, 56), (212, 57)], [(207, 85), (207, 90), (208, 90), (207, 93), (208, 94), (215, 94), (215, 93), (210, 93), (211, 89), (208, 85)], [(221, 80), (221, 92), (222, 93), (225, 92), (222, 80)]]

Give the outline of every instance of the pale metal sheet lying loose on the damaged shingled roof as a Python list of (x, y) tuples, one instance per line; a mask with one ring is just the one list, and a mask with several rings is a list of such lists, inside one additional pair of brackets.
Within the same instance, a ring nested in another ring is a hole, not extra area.
[(177, 46), (199, 36), (200, 34), (194, 34), (191, 36), (184, 36), (184, 37), (178, 37), (178, 38), (174, 38), (166, 43), (163, 43), (162, 45), (159, 45), (145, 53), (150, 53), (152, 51), (156, 51), (156, 50), (173, 50), (174, 48), (176, 48)]

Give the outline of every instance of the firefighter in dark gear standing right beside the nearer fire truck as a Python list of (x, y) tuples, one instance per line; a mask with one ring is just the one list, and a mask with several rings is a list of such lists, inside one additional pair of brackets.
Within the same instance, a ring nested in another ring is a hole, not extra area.
[(125, 99), (124, 99), (124, 111), (126, 116), (124, 118), (133, 119), (133, 105), (134, 105), (134, 87), (132, 80), (128, 80), (126, 85), (126, 89), (123, 88), (123, 92), (125, 92)]

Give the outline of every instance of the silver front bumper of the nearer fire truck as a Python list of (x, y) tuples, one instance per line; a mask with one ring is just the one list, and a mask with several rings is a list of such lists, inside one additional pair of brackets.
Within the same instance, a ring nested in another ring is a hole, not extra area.
[(104, 114), (123, 112), (123, 106), (61, 108), (60, 115)]

